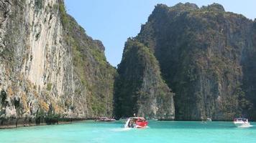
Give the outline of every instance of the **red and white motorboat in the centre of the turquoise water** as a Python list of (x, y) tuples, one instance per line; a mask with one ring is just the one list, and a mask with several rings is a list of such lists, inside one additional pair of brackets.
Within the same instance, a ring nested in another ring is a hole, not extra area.
[(144, 117), (129, 117), (124, 124), (125, 128), (145, 128), (147, 127), (147, 120)]

